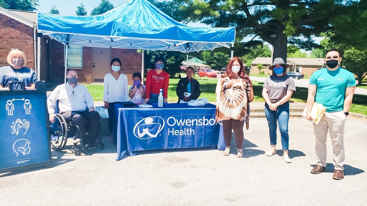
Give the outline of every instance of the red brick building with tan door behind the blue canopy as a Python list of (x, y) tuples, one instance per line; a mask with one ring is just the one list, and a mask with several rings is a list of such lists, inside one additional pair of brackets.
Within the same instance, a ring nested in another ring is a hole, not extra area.
[[(6, 10), (0, 7), (0, 66), (8, 65), (6, 57), (11, 48), (21, 48), (27, 57), (26, 66), (36, 70), (37, 49), (41, 49), (40, 80), (64, 82), (65, 45), (48, 36), (41, 37), (37, 48), (37, 13)], [(132, 74), (142, 71), (142, 54), (136, 49), (68, 46), (67, 68), (78, 71), (79, 82), (103, 82), (110, 72), (112, 58), (121, 60), (121, 68), (132, 84)]]

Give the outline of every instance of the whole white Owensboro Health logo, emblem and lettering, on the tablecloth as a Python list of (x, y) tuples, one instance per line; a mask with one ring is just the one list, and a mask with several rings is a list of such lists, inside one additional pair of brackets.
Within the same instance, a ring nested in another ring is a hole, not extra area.
[[(168, 117), (166, 119), (166, 123), (168, 136), (195, 135), (195, 129), (193, 129), (193, 126), (196, 128), (196, 126), (213, 126), (217, 124), (215, 119), (207, 119), (205, 117), (200, 119), (177, 119), (175, 117)], [(161, 117), (146, 117), (134, 126), (134, 135), (139, 139), (157, 137), (163, 130), (164, 125), (165, 121)]]

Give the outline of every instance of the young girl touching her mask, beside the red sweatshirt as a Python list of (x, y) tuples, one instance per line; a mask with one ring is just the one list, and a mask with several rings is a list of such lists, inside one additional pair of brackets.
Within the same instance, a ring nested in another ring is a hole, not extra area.
[(141, 84), (141, 74), (139, 72), (134, 73), (132, 75), (132, 80), (134, 81), (134, 84), (131, 85), (129, 90), (130, 102), (142, 104), (145, 99), (145, 85)]

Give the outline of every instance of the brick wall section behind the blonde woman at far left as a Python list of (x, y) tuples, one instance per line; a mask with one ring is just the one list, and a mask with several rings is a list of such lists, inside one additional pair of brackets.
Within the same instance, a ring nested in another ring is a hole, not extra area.
[(26, 55), (26, 67), (34, 69), (33, 27), (0, 14), (0, 67), (8, 66), (6, 58), (11, 48), (21, 48)]

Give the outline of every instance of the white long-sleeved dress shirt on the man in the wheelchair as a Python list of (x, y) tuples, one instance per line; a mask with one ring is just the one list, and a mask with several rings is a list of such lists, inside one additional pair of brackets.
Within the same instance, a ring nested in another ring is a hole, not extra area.
[(88, 111), (94, 107), (93, 98), (88, 89), (83, 85), (76, 84), (73, 88), (68, 82), (58, 85), (47, 99), (49, 114), (55, 113), (56, 101), (59, 100), (59, 111)]

